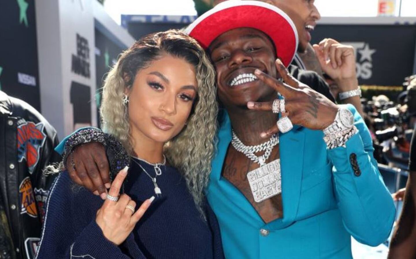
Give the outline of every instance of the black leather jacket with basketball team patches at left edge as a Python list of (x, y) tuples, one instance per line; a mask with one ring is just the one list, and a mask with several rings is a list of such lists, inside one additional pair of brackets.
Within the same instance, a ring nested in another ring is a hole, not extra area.
[(0, 258), (32, 259), (41, 236), (54, 176), (42, 169), (59, 162), (55, 129), (32, 106), (0, 91)]

